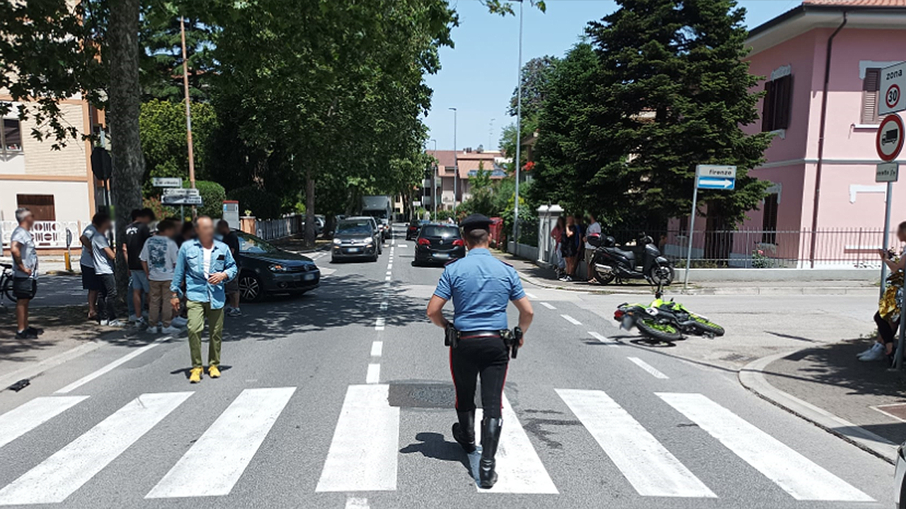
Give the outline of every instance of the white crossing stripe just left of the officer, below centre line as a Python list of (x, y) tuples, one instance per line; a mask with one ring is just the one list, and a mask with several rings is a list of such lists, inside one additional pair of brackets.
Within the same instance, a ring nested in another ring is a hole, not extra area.
[(387, 384), (351, 385), (316, 492), (392, 491), (400, 456), (400, 408)]

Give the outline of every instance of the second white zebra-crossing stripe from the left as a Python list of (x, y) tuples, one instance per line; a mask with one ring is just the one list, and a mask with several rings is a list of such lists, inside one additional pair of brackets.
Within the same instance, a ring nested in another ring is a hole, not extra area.
[(142, 394), (0, 490), (0, 505), (60, 504), (192, 392)]

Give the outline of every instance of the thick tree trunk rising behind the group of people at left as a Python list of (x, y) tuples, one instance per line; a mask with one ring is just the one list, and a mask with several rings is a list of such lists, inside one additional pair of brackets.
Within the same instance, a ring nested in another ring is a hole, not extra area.
[(111, 130), (111, 216), (116, 221), (114, 249), (120, 303), (125, 303), (127, 298), (129, 267), (118, 247), (125, 239), (132, 209), (141, 207), (144, 173), (139, 139), (139, 5), (140, 0), (111, 0), (110, 51), (105, 55), (111, 73), (110, 106), (106, 114)]

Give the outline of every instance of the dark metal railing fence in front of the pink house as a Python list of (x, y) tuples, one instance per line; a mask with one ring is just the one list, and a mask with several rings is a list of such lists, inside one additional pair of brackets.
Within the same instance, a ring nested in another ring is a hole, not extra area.
[[(689, 235), (684, 230), (647, 231), (661, 253), (685, 266)], [(632, 245), (639, 230), (609, 232), (622, 245)], [(894, 232), (889, 242), (900, 251)], [(693, 268), (873, 268), (881, 266), (881, 228), (819, 228), (814, 230), (695, 230)]]

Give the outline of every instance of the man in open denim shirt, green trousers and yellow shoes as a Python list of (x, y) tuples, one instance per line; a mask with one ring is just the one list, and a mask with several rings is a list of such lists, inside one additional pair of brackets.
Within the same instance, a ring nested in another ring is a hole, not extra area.
[(236, 261), (226, 244), (214, 240), (214, 222), (208, 216), (196, 220), (198, 236), (179, 248), (173, 283), (170, 284), (170, 304), (179, 309), (181, 286), (186, 282), (188, 303), (188, 348), (192, 354), (192, 370), (188, 381), (198, 383), (204, 371), (201, 364), (201, 331), (205, 319), (211, 340), (207, 350), (207, 374), (220, 376), (220, 341), (224, 330), (224, 283), (236, 277)]

